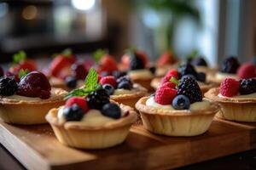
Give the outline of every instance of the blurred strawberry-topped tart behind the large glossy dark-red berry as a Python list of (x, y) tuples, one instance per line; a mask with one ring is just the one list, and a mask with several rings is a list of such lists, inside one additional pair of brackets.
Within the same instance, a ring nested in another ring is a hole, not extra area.
[(54, 88), (70, 91), (80, 87), (87, 75), (85, 66), (77, 61), (70, 49), (57, 54), (49, 65), (49, 82)]

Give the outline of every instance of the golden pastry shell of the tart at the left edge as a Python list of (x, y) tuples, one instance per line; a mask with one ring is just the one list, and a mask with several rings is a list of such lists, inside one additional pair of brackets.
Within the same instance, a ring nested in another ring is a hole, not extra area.
[(65, 104), (67, 92), (61, 88), (52, 88), (51, 94), (55, 96), (49, 99), (0, 97), (0, 120), (26, 125), (45, 123), (44, 117), (50, 109)]

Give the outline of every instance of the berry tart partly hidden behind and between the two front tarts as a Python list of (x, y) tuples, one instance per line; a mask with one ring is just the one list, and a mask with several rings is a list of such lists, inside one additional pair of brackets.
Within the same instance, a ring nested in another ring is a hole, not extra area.
[(127, 76), (118, 79), (113, 76), (102, 77), (100, 84), (102, 84), (102, 88), (106, 89), (110, 99), (132, 108), (135, 108), (137, 100), (145, 96), (148, 91), (141, 85), (133, 83)]

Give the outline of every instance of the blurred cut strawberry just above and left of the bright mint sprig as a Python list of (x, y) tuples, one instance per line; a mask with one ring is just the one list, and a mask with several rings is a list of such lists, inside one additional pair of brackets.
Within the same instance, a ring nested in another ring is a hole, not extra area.
[(71, 74), (71, 65), (73, 65), (75, 61), (76, 59), (73, 55), (67, 56), (59, 54), (49, 65), (51, 75), (65, 79), (65, 77)]

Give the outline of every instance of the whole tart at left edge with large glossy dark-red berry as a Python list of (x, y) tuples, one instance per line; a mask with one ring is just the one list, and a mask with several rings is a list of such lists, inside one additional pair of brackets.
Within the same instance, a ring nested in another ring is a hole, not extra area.
[(0, 78), (0, 119), (14, 124), (46, 122), (44, 116), (54, 107), (65, 103), (66, 91), (51, 88), (47, 77), (32, 71), (20, 77)]

